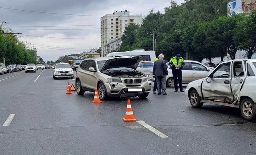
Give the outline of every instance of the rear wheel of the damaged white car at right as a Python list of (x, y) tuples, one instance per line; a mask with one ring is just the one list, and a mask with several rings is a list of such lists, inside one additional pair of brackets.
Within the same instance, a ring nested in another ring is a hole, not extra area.
[(242, 116), (249, 121), (254, 120), (256, 117), (254, 104), (255, 103), (251, 99), (245, 98), (240, 105)]

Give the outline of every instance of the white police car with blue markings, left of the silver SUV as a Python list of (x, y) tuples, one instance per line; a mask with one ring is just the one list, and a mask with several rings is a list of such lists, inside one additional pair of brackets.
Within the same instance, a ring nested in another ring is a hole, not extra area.
[(53, 68), (53, 78), (74, 78), (74, 71), (72, 70), (70, 64), (56, 64)]

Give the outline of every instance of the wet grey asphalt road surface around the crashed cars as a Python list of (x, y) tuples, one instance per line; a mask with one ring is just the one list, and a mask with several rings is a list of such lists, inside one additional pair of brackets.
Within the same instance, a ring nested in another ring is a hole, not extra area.
[[(174, 88), (92, 104), (92, 92), (66, 94), (68, 82), (53, 80), (52, 69), (0, 75), (0, 154), (256, 154), (256, 123), (239, 109), (192, 108)], [(122, 120), (128, 99), (137, 122)]]

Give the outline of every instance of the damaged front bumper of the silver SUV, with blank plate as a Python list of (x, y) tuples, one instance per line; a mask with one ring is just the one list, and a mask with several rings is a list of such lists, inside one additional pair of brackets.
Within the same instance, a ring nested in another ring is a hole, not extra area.
[[(105, 83), (107, 96), (110, 97), (131, 97), (148, 94), (151, 91), (151, 81), (142, 82), (142, 84), (128, 85), (122, 82), (107, 82)], [(128, 90), (129, 89), (129, 90)], [(130, 91), (130, 89), (138, 89), (141, 91)]]

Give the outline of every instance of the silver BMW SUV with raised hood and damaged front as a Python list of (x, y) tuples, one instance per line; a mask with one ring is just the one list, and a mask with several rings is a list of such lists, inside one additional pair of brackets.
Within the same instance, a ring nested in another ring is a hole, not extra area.
[(75, 87), (79, 95), (95, 92), (101, 100), (108, 97), (146, 98), (151, 90), (148, 75), (136, 68), (144, 57), (98, 57), (83, 60), (76, 71)]

